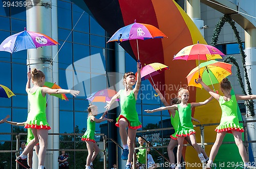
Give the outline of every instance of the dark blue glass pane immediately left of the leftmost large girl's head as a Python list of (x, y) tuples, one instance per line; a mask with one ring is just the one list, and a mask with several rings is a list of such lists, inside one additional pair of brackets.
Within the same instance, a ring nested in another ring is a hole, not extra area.
[[(26, 78), (25, 78), (26, 77)], [(12, 64), (12, 92), (26, 94), (27, 66)]]

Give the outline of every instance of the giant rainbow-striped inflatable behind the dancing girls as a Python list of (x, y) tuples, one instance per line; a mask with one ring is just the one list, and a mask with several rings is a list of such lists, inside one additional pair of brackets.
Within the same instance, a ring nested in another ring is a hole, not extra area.
[[(160, 29), (168, 38), (139, 40), (140, 61), (142, 65), (154, 62), (168, 65), (170, 70), (165, 71), (154, 80), (165, 88), (158, 88), (166, 96), (177, 94), (177, 90), (187, 85), (186, 75), (197, 66), (197, 61), (173, 61), (173, 56), (183, 47), (195, 44), (198, 41), (206, 44), (194, 22), (187, 16), (184, 10), (174, 0), (72, 0), (80, 8), (92, 14), (103, 29), (112, 36), (123, 26), (134, 23), (136, 19), (139, 23), (152, 24)], [(137, 60), (136, 40), (124, 41), (120, 45)], [(219, 85), (215, 85), (218, 90)], [(191, 87), (190, 102), (204, 101), (209, 94), (202, 89)], [(166, 98), (169, 100), (170, 98)], [(193, 115), (202, 124), (219, 123), (221, 109), (216, 100), (211, 101), (205, 106), (200, 106), (193, 110)], [(216, 126), (205, 127), (205, 142), (214, 143)], [(201, 143), (200, 129), (196, 128), (197, 142)], [(233, 136), (227, 134), (225, 141), (233, 141)], [(212, 145), (205, 146), (206, 153), (209, 155)], [(187, 163), (200, 163), (196, 151), (192, 147), (187, 147), (183, 151), (183, 157)], [(235, 144), (222, 145), (215, 159), (219, 164), (224, 163), (221, 168), (231, 166), (231, 162), (241, 162), (238, 148)], [(217, 163), (217, 168), (218, 167)], [(187, 168), (202, 168), (187, 166)]]

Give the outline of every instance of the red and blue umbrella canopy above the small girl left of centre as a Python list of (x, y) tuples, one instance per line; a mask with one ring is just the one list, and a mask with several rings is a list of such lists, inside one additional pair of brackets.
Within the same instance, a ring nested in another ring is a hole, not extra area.
[(103, 89), (103, 90), (99, 90), (99, 91), (94, 92), (93, 94), (91, 94), (87, 98), (87, 100), (90, 100), (91, 102), (106, 102), (106, 101), (110, 101), (111, 98), (113, 96), (115, 96), (115, 94), (117, 94), (117, 92), (115, 90)]

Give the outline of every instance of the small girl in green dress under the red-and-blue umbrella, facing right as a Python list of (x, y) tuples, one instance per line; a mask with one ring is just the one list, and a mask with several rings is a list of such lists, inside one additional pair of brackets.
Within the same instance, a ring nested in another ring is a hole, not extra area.
[(94, 139), (95, 123), (100, 123), (103, 121), (113, 122), (113, 120), (104, 118), (107, 111), (105, 111), (104, 114), (99, 119), (96, 119), (94, 117), (98, 115), (98, 107), (96, 105), (89, 104), (89, 107), (87, 110), (88, 110), (87, 130), (83, 134), (81, 139), (82, 141), (86, 142), (86, 146), (88, 150), (88, 156), (86, 160), (86, 169), (91, 169), (93, 166), (93, 160), (99, 154), (99, 147), (96, 144)]

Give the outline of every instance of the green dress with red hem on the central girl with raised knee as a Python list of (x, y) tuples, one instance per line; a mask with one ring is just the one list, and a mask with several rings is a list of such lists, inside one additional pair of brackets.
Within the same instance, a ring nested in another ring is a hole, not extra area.
[(136, 111), (136, 99), (133, 90), (126, 96), (124, 90), (120, 90), (120, 106), (121, 113), (116, 119), (116, 126), (119, 127), (119, 120), (124, 118), (129, 122), (129, 128), (138, 129), (141, 128), (141, 123)]

